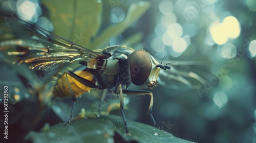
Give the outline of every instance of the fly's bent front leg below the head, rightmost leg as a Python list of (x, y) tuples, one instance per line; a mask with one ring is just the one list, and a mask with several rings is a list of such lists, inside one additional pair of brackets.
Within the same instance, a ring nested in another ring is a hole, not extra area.
[(151, 91), (144, 91), (144, 90), (123, 90), (124, 94), (127, 95), (134, 95), (134, 96), (141, 96), (141, 95), (149, 95), (151, 97), (150, 100), (150, 107), (148, 108), (147, 114), (150, 116), (154, 126), (158, 129), (160, 129), (160, 127), (156, 124), (155, 119), (151, 113), (152, 111), (152, 107), (153, 107), (153, 93)]

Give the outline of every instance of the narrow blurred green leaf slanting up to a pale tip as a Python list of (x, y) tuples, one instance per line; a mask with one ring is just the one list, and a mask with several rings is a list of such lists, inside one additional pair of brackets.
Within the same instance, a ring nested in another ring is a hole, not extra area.
[(142, 14), (150, 7), (149, 2), (139, 2), (132, 4), (127, 12), (125, 19), (115, 25), (111, 25), (105, 29), (96, 39), (89, 45), (89, 47), (100, 48), (103, 44), (107, 43), (111, 37), (117, 36), (127, 29), (134, 21), (141, 17)]

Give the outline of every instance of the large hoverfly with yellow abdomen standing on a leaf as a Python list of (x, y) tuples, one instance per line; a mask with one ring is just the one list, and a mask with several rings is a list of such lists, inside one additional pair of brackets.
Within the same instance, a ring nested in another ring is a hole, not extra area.
[[(29, 68), (42, 71), (51, 71), (59, 68), (65, 63), (78, 62), (79, 66), (70, 71), (67, 70), (57, 79), (53, 88), (53, 94), (57, 97), (70, 97), (73, 100), (70, 117), (65, 125), (68, 125), (73, 117), (73, 110), (77, 97), (81, 93), (88, 92), (92, 88), (108, 90), (117, 94), (120, 98), (120, 110), (126, 135), (129, 131), (124, 114), (123, 96), (126, 95), (149, 95), (151, 97), (147, 114), (154, 125), (156, 124), (152, 115), (153, 93), (146, 90), (129, 90), (130, 84), (142, 88), (157, 85), (160, 70), (170, 69), (168, 64), (163, 65), (145, 51), (135, 51), (130, 47), (116, 45), (105, 47), (103, 50), (89, 50), (83, 46), (65, 40), (33, 23), (22, 19), (13, 19), (13, 15), (4, 14), (4, 17), (12, 19), (4, 25), (11, 25), (15, 35), (16, 29), (25, 31), (28, 37), (15, 37), (11, 40), (0, 42), (0, 51), (6, 52), (8, 56), (15, 56), (17, 64), (26, 63)], [(16, 16), (14, 16), (16, 17)], [(3, 25), (1, 27), (4, 27)], [(5, 26), (6, 27), (6, 26)], [(24, 34), (25, 35), (25, 34)], [(173, 76), (180, 82), (186, 84), (182, 76)], [(200, 81), (200, 78), (195, 79)], [(104, 96), (101, 96), (102, 101)], [(100, 106), (100, 105), (99, 105)], [(100, 112), (100, 111), (99, 111)]]

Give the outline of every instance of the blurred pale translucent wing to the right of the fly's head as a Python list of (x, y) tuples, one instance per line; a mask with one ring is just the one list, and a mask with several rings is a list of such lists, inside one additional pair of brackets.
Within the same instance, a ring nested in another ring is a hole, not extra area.
[[(152, 56), (153, 62), (159, 64)], [(199, 88), (205, 84), (204, 78), (211, 74), (207, 65), (199, 61), (163, 61), (163, 63), (171, 66), (170, 69), (160, 70), (158, 83), (168, 85), (168, 87), (180, 88), (186, 86), (188, 88)]]

